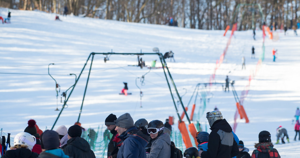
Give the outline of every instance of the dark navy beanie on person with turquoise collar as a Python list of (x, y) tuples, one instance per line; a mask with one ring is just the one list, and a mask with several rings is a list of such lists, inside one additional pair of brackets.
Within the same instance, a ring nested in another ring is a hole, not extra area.
[(56, 149), (60, 145), (58, 134), (53, 130), (46, 130), (41, 135), (41, 148), (42, 149)]

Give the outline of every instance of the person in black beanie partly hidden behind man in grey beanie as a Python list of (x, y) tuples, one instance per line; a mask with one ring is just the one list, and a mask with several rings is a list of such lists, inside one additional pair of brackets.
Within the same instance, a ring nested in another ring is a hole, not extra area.
[(115, 120), (117, 120), (117, 117), (116, 115), (113, 114), (108, 115), (107, 118), (105, 119), (105, 126), (107, 127), (107, 130), (110, 130), (110, 133), (113, 134), (112, 139), (110, 139), (110, 142), (108, 143), (108, 147), (107, 147), (107, 155), (109, 155), (108, 153), (110, 153), (112, 158), (116, 158), (119, 151), (119, 146), (117, 146), (117, 142), (113, 141), (115, 137), (119, 136), (119, 134), (115, 130), (116, 129), (116, 125), (114, 123)]

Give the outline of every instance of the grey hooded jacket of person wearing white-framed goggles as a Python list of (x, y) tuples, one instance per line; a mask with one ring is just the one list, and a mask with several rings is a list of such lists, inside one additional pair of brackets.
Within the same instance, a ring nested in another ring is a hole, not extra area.
[(151, 151), (147, 158), (169, 158), (171, 157), (171, 139), (168, 133), (161, 134), (151, 145)]

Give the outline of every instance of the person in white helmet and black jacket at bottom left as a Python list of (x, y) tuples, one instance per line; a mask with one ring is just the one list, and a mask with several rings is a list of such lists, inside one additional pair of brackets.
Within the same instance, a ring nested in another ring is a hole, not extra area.
[(35, 143), (35, 136), (27, 132), (18, 133), (13, 139), (13, 147), (10, 147), (1, 158), (36, 158), (38, 154), (31, 151)]

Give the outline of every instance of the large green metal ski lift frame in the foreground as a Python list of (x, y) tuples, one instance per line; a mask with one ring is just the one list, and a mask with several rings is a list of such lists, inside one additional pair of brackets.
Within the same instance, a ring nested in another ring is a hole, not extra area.
[[(85, 90), (84, 90), (83, 99), (82, 99), (82, 104), (81, 104), (81, 107), (80, 107), (80, 112), (79, 112), (79, 116), (78, 116), (78, 120), (77, 120), (77, 123), (79, 122), (79, 118), (80, 118), (80, 115), (81, 115), (81, 112), (82, 112), (83, 102), (84, 102), (84, 98), (85, 98), (85, 93), (86, 93), (86, 89), (87, 89), (87, 86), (88, 86), (88, 80), (89, 80), (89, 76), (90, 76), (90, 73), (91, 73), (91, 67), (92, 67), (94, 55), (96, 55), (96, 54), (102, 54), (102, 55), (158, 55), (159, 58), (160, 58), (160, 61), (161, 61), (163, 70), (164, 70), (164, 75), (165, 75), (165, 77), (166, 77), (166, 81), (167, 81), (167, 84), (168, 84), (168, 87), (169, 87), (169, 90), (170, 90), (170, 94), (171, 94), (171, 97), (172, 97), (172, 100), (173, 100), (173, 104), (174, 104), (175, 109), (176, 109), (177, 116), (178, 116), (178, 118), (179, 118), (179, 122), (182, 122), (182, 120), (181, 120), (181, 118), (180, 118), (180, 115), (179, 115), (179, 113), (178, 113), (178, 109), (177, 109), (177, 107), (176, 107), (176, 103), (175, 103), (175, 100), (174, 100), (174, 97), (173, 97), (173, 93), (172, 93), (172, 90), (171, 90), (171, 86), (170, 86), (170, 83), (169, 83), (169, 79), (168, 79), (168, 77), (167, 77), (167, 73), (168, 73), (169, 78), (170, 78), (170, 80), (171, 80), (171, 82), (172, 82), (172, 85), (173, 85), (173, 87), (174, 87), (174, 89), (175, 89), (175, 91), (176, 91), (177, 97), (179, 98), (179, 101), (180, 101), (180, 103), (181, 103), (181, 105), (182, 105), (182, 109), (183, 109), (183, 111), (184, 111), (184, 113), (185, 113), (185, 115), (186, 115), (187, 121), (188, 121), (189, 124), (190, 124), (190, 119), (189, 119), (189, 117), (188, 117), (188, 115), (187, 115), (186, 110), (184, 109), (184, 105), (183, 105), (183, 103), (182, 103), (181, 97), (180, 97), (180, 95), (179, 95), (179, 93), (178, 93), (178, 91), (177, 91), (176, 85), (175, 85), (175, 83), (174, 83), (174, 81), (173, 81), (172, 75), (171, 75), (171, 73), (170, 73), (170, 71), (169, 71), (169, 68), (167, 67), (167, 63), (166, 63), (166, 61), (165, 61), (164, 56), (162, 55), (162, 53), (160, 53), (160, 52), (156, 52), (156, 53), (142, 53), (142, 52), (141, 52), (141, 53), (114, 53), (114, 52), (95, 53), (95, 52), (91, 52), (90, 55), (88, 56), (88, 59), (86, 60), (86, 62), (85, 62), (85, 64), (84, 64), (84, 66), (83, 66), (83, 68), (82, 68), (82, 70), (81, 70), (81, 72), (80, 72), (78, 78), (76, 79), (76, 82), (75, 82), (75, 84), (73, 85), (73, 88), (71, 89), (71, 91), (70, 91), (70, 93), (69, 93), (67, 99), (64, 100), (64, 105), (62, 106), (62, 108), (61, 108), (61, 110), (60, 110), (60, 112), (59, 112), (59, 114), (58, 114), (58, 116), (57, 116), (57, 118), (56, 118), (56, 120), (55, 120), (55, 122), (54, 122), (54, 124), (53, 124), (53, 126), (52, 126), (52, 128), (51, 128), (51, 130), (53, 130), (53, 128), (54, 128), (56, 122), (58, 121), (58, 118), (59, 118), (59, 116), (61, 115), (61, 112), (63, 111), (64, 107), (66, 106), (67, 101), (69, 100), (69, 98), (70, 98), (70, 96), (71, 96), (71, 94), (72, 94), (72, 92), (73, 92), (73, 90), (74, 90), (74, 88), (75, 88), (75, 86), (76, 86), (78, 80), (80, 79), (80, 76), (81, 76), (83, 70), (85, 69), (85, 66), (86, 66), (87, 63), (88, 63), (88, 60), (89, 60), (90, 57), (92, 56), (92, 59), (91, 59), (91, 66), (90, 66), (90, 69), (89, 69), (89, 72), (88, 72), (88, 78), (87, 78), (87, 81), (86, 81)], [(167, 69), (167, 73), (166, 73), (165, 68)]]

